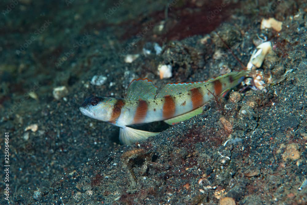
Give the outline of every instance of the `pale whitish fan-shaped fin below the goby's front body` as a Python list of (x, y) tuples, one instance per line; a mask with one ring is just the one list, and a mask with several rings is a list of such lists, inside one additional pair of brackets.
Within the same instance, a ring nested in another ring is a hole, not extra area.
[(159, 132), (148, 132), (133, 129), (131, 127), (119, 128), (119, 140), (123, 145), (132, 145), (135, 142), (143, 141), (151, 136), (157, 135)]

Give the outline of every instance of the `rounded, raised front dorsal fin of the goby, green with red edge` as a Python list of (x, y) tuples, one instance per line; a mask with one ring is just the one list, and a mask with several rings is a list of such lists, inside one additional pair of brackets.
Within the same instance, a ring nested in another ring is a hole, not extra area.
[(147, 78), (134, 79), (130, 82), (126, 99), (128, 100), (146, 100), (152, 99), (156, 95), (157, 88)]

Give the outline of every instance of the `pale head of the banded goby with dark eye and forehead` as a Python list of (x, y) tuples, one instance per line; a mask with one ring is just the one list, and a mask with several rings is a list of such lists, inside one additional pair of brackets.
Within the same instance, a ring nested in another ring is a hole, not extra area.
[(81, 105), (80, 112), (96, 120), (108, 122), (114, 107), (114, 98), (89, 96)]

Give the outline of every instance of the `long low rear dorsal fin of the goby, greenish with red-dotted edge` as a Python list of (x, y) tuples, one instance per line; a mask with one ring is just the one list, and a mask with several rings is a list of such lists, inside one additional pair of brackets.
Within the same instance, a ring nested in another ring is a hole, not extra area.
[(157, 98), (165, 95), (174, 95), (187, 92), (193, 88), (198, 88), (203, 82), (169, 83), (166, 84), (156, 95)]

